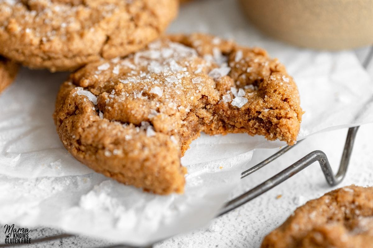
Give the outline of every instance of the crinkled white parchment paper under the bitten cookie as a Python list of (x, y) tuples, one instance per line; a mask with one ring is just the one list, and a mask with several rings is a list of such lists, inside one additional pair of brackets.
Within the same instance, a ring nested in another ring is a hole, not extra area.
[[(231, 0), (182, 7), (170, 32), (209, 32), (261, 46), (294, 76), (305, 110), (300, 138), (373, 122), (369, 76), (351, 51), (294, 48), (258, 33)], [(51, 226), (66, 232), (145, 245), (206, 225), (216, 215), (252, 150), (273, 148), (245, 134), (194, 141), (182, 163), (185, 194), (157, 196), (94, 173), (63, 148), (52, 120), (54, 100), (68, 74), (22, 69), (0, 97), (0, 222)]]

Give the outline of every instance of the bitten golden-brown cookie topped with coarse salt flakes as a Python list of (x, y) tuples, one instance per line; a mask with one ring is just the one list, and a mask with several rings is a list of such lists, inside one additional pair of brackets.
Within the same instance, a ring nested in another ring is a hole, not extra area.
[(292, 145), (301, 116), (297, 86), (278, 60), (204, 34), (86, 65), (62, 84), (54, 112), (76, 159), (157, 194), (183, 191), (180, 158), (201, 131)]

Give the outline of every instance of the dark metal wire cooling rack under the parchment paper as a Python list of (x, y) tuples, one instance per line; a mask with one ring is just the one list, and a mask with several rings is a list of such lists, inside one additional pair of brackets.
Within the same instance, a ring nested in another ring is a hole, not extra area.
[[(370, 48), (370, 51), (363, 62), (363, 67), (367, 68), (370, 61), (372, 61), (373, 57), (373, 46)], [(370, 102), (373, 102), (373, 96), (370, 99)], [(336, 186), (337, 184), (341, 183), (341, 181), (344, 179), (346, 173), (347, 173), (347, 168), (350, 163), (350, 158), (352, 154), (352, 148), (354, 147), (354, 141), (355, 137), (357, 134), (357, 131), (359, 129), (359, 126), (355, 126), (352, 128), (348, 129), (347, 133), (347, 138), (345, 141), (345, 146), (343, 149), (342, 153), (342, 158), (341, 162), (339, 164), (339, 168), (336, 174), (333, 173), (332, 168), (330, 167), (329, 161), (327, 159), (326, 154), (323, 151), (313, 151), (310, 152), (309, 154), (305, 155), (303, 158), (295, 162), (294, 164), (290, 165), (287, 167), (285, 170), (282, 170), (280, 173), (274, 175), (273, 177), (269, 178), (268, 180), (264, 181), (263, 183), (259, 184), (258, 186), (254, 187), (251, 190), (246, 191), (245, 193), (241, 194), (240, 196), (235, 197), (234, 199), (230, 200), (227, 202), (220, 212), (217, 214), (216, 217), (222, 216), (233, 209), (236, 209), (237, 207), (250, 202), (251, 200), (255, 199), (256, 197), (260, 196), (261, 194), (267, 192), (268, 190), (272, 189), (273, 187), (276, 187), (283, 181), (289, 179), (290, 177), (294, 176), (298, 172), (304, 170), (307, 168), (309, 165), (313, 164), (314, 162), (318, 161), (321, 167), (321, 170), (325, 176), (327, 184), (330, 186)], [(281, 155), (285, 154), (291, 149), (294, 149), (298, 144), (302, 142), (298, 141), (297, 144), (293, 146), (286, 146), (285, 148), (281, 149), (280, 151), (276, 152), (266, 160), (263, 160), (259, 164), (251, 167), (248, 170), (245, 170), (244, 172), (241, 173), (241, 179), (244, 177), (247, 177), (250, 174), (253, 174), (254, 172), (260, 170), (270, 162), (276, 160), (279, 158)], [(54, 236), (48, 236), (44, 238), (39, 238), (39, 239), (33, 239), (32, 244), (37, 244), (41, 242), (46, 242), (46, 241), (52, 241), (56, 239), (62, 239), (62, 238), (68, 238), (72, 237), (74, 235), (70, 234), (60, 234), (60, 235), (54, 235)], [(15, 245), (22, 245), (22, 244), (0, 244), (0, 248), (3, 247), (13, 247)], [(23, 244), (23, 246), (27, 246), (26, 244)], [(150, 245), (148, 247), (142, 247), (142, 248), (151, 248), (153, 245)], [(107, 246), (107, 247), (100, 247), (100, 248), (139, 248), (139, 247), (132, 247), (132, 246), (127, 246), (127, 245), (113, 245), (113, 246)]]

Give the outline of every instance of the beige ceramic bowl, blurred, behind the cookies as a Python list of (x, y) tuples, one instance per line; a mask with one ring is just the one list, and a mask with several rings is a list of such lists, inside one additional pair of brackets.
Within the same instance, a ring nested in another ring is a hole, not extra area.
[(373, 44), (373, 0), (240, 0), (264, 33), (293, 45), (350, 49)]

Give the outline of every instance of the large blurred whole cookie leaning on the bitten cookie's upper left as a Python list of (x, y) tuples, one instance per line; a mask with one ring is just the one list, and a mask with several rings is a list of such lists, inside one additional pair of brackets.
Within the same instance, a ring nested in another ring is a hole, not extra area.
[(157, 39), (178, 0), (3, 0), (0, 54), (30, 68), (74, 70)]

